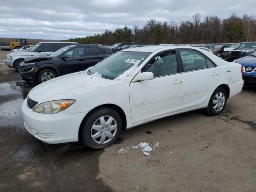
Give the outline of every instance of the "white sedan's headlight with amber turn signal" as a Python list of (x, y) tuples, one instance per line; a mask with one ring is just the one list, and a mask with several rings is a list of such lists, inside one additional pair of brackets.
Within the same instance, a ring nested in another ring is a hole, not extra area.
[(37, 113), (52, 114), (58, 113), (71, 106), (76, 100), (55, 100), (37, 105), (33, 111)]

